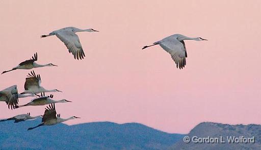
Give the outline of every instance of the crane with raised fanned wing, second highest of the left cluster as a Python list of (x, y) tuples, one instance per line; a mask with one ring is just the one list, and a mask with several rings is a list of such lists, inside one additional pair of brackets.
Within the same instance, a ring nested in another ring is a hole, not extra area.
[(21, 94), (27, 94), (27, 93), (32, 93), (32, 94), (37, 94), (41, 92), (62, 92), (57, 89), (54, 90), (46, 90), (43, 87), (41, 87), (41, 76), (40, 74), (35, 74), (35, 71), (31, 71), (31, 74), (27, 76), (28, 78), (25, 79), (24, 83), (24, 92)]

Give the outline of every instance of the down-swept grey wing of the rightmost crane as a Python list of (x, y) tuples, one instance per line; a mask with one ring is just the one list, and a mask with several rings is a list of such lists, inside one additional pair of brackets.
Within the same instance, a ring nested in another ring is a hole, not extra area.
[(171, 55), (177, 68), (182, 69), (185, 67), (187, 51), (184, 41), (179, 42), (177, 39), (164, 39), (160, 41), (160, 46)]

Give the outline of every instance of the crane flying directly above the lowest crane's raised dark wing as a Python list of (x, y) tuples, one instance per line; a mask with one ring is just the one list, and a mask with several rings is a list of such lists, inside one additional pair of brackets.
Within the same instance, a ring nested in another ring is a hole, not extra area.
[(41, 93), (40, 97), (32, 99), (32, 101), (29, 102), (28, 104), (16, 106), (15, 108), (20, 108), (20, 107), (24, 107), (24, 106), (41, 106), (41, 105), (47, 105), (47, 104), (52, 104), (52, 103), (71, 102), (71, 101), (67, 101), (66, 99), (61, 99), (59, 101), (56, 101), (54, 99), (51, 99), (53, 97), (54, 97), (54, 95), (52, 95), (52, 94), (50, 94), (50, 96), (45, 96), (45, 93)]

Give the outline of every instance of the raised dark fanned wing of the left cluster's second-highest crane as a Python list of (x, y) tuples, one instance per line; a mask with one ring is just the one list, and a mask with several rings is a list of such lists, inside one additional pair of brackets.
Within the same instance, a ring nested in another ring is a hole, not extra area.
[(31, 74), (29, 73), (29, 76), (27, 76), (28, 78), (25, 79), (25, 83), (24, 83), (24, 89), (25, 90), (29, 90), (30, 87), (33, 86), (40, 86), (41, 84), (41, 76), (40, 74), (35, 74), (35, 71), (31, 71)]

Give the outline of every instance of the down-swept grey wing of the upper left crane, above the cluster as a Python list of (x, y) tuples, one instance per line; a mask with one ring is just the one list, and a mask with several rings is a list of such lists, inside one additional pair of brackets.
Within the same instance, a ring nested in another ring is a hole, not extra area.
[(82, 44), (80, 43), (79, 37), (74, 32), (63, 30), (56, 33), (56, 36), (62, 42), (64, 42), (69, 50), (69, 53), (72, 53), (72, 55), (74, 56), (74, 59), (84, 59), (85, 54), (82, 48)]

